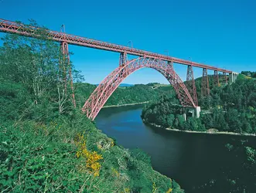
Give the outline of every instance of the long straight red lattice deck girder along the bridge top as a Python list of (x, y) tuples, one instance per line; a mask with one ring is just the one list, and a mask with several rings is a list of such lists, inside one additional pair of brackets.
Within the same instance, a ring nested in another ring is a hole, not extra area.
[[(0, 32), (8, 32), (19, 34), (20, 36), (29, 36), (38, 38), (39, 32), (42, 32), (42, 29), (36, 28), (34, 26), (22, 25), (19, 22), (11, 22), (5, 19), (0, 19)], [(46, 36), (49, 39), (53, 39), (57, 42), (67, 42), (69, 44), (77, 45), (77, 46), (86, 46), (94, 49), (104, 49), (112, 52), (126, 52), (127, 54), (131, 54), (134, 56), (150, 56), (155, 57), (161, 60), (169, 61), (172, 63), (179, 63), (183, 65), (191, 65), (200, 68), (217, 70), (219, 72), (232, 73), (227, 69), (220, 69), (214, 66), (207, 66), (201, 63), (194, 63), (185, 59), (178, 59), (171, 56), (165, 56), (162, 54), (157, 54), (154, 52), (148, 52), (142, 49), (134, 49), (128, 46), (120, 46), (114, 43), (102, 42), (95, 39), (88, 39), (80, 36), (73, 36), (64, 32), (55, 32), (51, 30), (46, 30)]]

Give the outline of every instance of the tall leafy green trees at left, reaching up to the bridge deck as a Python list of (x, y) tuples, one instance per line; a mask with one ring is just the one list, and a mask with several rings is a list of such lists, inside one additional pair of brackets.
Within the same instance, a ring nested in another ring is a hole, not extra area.
[[(34, 21), (32, 25), (38, 26)], [(46, 39), (45, 29), (36, 33), (40, 39), (13, 34), (2, 38), (0, 79), (20, 83), (28, 90), (27, 99), (33, 103), (28, 111), (24, 110), (26, 116), (53, 117), (56, 108), (59, 115), (69, 113), (72, 103), (67, 84), (70, 83), (68, 70), (72, 64), (63, 57), (59, 43)]]

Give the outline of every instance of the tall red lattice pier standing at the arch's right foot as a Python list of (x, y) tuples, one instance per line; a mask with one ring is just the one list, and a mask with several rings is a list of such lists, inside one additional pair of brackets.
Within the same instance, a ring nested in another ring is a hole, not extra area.
[(196, 95), (196, 83), (194, 80), (193, 67), (188, 65), (186, 72), (186, 86), (189, 90), (190, 95), (193, 97), (194, 103), (197, 106), (197, 95)]

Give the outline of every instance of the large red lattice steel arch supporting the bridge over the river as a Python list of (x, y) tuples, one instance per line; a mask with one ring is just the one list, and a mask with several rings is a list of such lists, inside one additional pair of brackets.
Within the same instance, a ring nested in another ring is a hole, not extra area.
[(161, 59), (143, 56), (137, 59), (132, 59), (123, 66), (114, 69), (114, 71), (97, 86), (82, 107), (82, 110), (87, 114), (87, 117), (94, 120), (97, 113), (99, 113), (108, 98), (111, 97), (114, 90), (118, 88), (119, 84), (131, 73), (145, 67), (156, 69), (166, 77), (169, 83), (174, 87), (179, 102), (184, 107), (196, 107), (185, 84), (176, 74), (172, 66)]

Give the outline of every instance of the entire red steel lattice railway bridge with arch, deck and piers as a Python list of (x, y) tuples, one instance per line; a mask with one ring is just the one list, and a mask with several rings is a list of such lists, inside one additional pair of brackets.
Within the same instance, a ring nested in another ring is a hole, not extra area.
[[(38, 27), (31, 25), (23, 25), (19, 22), (11, 22), (5, 19), (0, 19), (0, 32), (14, 33), (20, 36), (28, 36), (32, 38), (39, 38), (39, 31), (42, 30)], [(237, 73), (234, 73), (227, 69), (220, 69), (214, 66), (208, 66), (202, 63), (194, 63), (185, 59), (178, 59), (171, 56), (165, 56), (162, 54), (148, 52), (142, 49), (134, 49), (128, 46), (121, 46), (114, 43), (102, 42), (95, 39), (88, 39), (80, 36), (73, 36), (65, 32), (56, 32), (49, 29), (44, 29), (46, 32), (46, 38), (53, 39), (56, 42), (60, 42), (63, 55), (70, 61), (70, 56), (68, 52), (68, 44), (85, 46), (94, 49), (103, 49), (111, 52), (119, 52), (119, 66), (114, 69), (94, 90), (90, 95), (89, 99), (84, 103), (82, 110), (87, 114), (87, 117), (94, 120), (97, 113), (107, 102), (111, 94), (116, 90), (119, 84), (125, 80), (127, 76), (134, 73), (136, 70), (141, 68), (152, 68), (169, 81), (174, 87), (179, 102), (184, 107), (197, 107), (197, 96), (196, 96), (196, 84), (193, 76), (193, 67), (198, 67), (203, 69), (203, 80), (201, 86), (201, 94), (203, 97), (210, 95), (210, 86), (207, 75), (207, 70), (214, 71), (214, 86), (219, 86), (219, 73), (223, 73), (224, 83), (227, 83), (227, 73), (230, 75), (230, 81), (234, 82), (237, 79)], [(136, 59), (128, 60), (128, 55), (138, 56)], [(187, 76), (186, 85), (179, 78), (173, 69), (173, 63), (178, 63), (187, 66)], [(70, 86), (73, 90), (73, 80), (71, 69), (70, 73)], [(73, 105), (76, 107), (76, 101), (74, 93), (72, 94)]]

